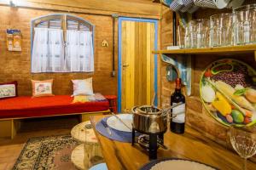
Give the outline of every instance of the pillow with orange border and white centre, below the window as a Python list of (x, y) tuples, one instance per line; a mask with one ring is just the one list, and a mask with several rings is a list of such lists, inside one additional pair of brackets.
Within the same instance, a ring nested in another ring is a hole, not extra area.
[(32, 80), (32, 96), (54, 96), (54, 94), (52, 94), (52, 83), (53, 79), (44, 81)]

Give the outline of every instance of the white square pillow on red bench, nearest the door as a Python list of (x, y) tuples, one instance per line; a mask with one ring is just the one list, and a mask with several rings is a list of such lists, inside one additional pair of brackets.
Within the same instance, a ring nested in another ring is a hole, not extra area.
[(93, 95), (92, 77), (83, 80), (72, 80), (73, 96)]

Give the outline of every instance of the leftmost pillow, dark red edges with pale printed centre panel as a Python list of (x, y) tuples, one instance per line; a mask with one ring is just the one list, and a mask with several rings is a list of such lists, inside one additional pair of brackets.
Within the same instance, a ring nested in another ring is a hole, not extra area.
[(18, 82), (0, 83), (0, 99), (14, 98), (18, 96)]

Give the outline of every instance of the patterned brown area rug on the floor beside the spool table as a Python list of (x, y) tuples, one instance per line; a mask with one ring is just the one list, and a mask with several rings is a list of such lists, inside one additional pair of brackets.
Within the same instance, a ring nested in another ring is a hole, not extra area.
[(28, 139), (14, 170), (75, 170), (70, 156), (78, 143), (70, 135)]

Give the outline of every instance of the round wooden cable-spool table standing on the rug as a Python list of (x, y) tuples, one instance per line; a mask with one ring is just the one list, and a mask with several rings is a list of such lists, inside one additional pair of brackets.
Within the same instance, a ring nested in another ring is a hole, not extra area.
[(90, 121), (81, 122), (73, 127), (71, 135), (73, 139), (82, 143), (71, 154), (71, 161), (75, 167), (84, 170), (103, 162), (102, 149), (98, 144), (93, 128), (90, 126)]

